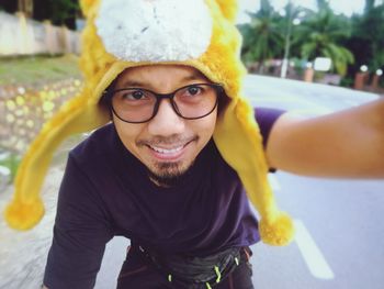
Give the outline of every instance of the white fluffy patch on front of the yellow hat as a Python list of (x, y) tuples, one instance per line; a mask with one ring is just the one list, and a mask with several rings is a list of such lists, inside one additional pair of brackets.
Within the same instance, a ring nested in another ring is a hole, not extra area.
[(156, 63), (197, 58), (211, 43), (213, 23), (204, 0), (108, 0), (95, 25), (116, 58)]

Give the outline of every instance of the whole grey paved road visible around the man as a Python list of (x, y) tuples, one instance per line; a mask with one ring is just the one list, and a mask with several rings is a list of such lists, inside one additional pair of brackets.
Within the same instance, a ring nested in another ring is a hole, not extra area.
[[(246, 91), (255, 105), (283, 108), (307, 115), (377, 98), (349, 89), (256, 76), (247, 78)], [(47, 214), (35, 230), (15, 234), (4, 229), (0, 220), (1, 289), (38, 288), (50, 244), (61, 174), (63, 166), (49, 173), (43, 192)], [(326, 180), (281, 171), (271, 178), (278, 202), (295, 219), (298, 234), (286, 247), (261, 243), (252, 247), (256, 288), (383, 288), (384, 180)], [(1, 199), (1, 209), (3, 203)], [(108, 244), (97, 289), (114, 288), (127, 244), (122, 237)]]

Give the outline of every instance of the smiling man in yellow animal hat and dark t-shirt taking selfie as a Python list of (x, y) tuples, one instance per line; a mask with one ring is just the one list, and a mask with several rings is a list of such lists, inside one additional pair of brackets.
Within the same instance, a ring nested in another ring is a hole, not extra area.
[(32, 144), (7, 211), (32, 226), (49, 153), (111, 118), (69, 155), (47, 288), (92, 288), (114, 235), (132, 241), (118, 288), (252, 288), (248, 246), (293, 237), (268, 168), (384, 177), (383, 100), (305, 121), (257, 110), (263, 148), (241, 97), (234, 1), (180, 2), (82, 2), (84, 92)]

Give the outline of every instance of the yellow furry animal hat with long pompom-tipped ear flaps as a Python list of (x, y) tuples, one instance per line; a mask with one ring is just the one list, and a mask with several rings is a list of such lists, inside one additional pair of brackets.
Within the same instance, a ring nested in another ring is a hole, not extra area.
[(287, 244), (293, 238), (292, 221), (274, 202), (259, 127), (242, 96), (246, 70), (239, 58), (236, 0), (81, 0), (81, 7), (88, 19), (80, 57), (84, 88), (30, 146), (15, 179), (14, 198), (5, 209), (8, 223), (27, 230), (41, 220), (39, 190), (54, 151), (70, 134), (110, 121), (99, 101), (118, 74), (142, 65), (180, 64), (224, 86), (230, 101), (217, 121), (214, 141), (261, 216), (262, 241)]

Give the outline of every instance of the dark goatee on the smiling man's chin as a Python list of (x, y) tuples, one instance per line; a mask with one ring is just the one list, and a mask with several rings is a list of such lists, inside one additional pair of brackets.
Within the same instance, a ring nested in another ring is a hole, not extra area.
[(188, 175), (192, 166), (193, 163), (184, 166), (179, 162), (157, 163), (153, 168), (148, 168), (148, 177), (159, 187), (174, 187)]

